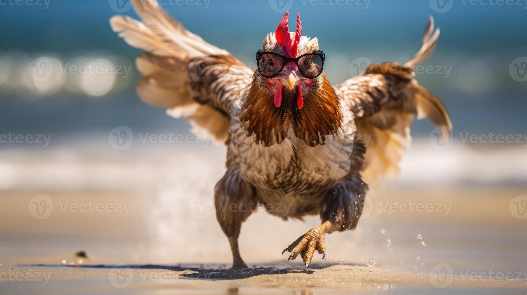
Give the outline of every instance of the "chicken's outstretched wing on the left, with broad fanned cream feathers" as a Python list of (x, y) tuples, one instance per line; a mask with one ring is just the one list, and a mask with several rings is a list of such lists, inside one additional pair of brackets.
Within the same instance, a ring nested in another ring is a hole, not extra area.
[(234, 102), (250, 84), (253, 71), (189, 32), (157, 2), (134, 0), (133, 7), (142, 22), (115, 15), (110, 25), (130, 46), (145, 51), (136, 59), (144, 75), (137, 85), (141, 99), (225, 141)]

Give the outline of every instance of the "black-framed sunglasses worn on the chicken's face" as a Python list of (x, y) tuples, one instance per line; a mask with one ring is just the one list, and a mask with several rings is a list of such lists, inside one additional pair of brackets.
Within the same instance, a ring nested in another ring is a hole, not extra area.
[(256, 53), (258, 72), (266, 78), (275, 77), (288, 62), (294, 62), (302, 75), (314, 79), (322, 73), (325, 61), (326, 54), (323, 51), (302, 54), (297, 58), (284, 57), (274, 52), (259, 51)]

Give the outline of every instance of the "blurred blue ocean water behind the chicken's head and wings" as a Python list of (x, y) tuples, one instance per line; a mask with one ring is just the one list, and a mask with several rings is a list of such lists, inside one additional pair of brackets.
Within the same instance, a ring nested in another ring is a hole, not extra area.
[[(345, 2), (353, 5), (276, 1), (161, 3), (193, 33), (250, 65), (265, 34), (276, 29), (282, 16), (277, 7), (290, 7), (291, 13), (301, 14), (302, 32), (319, 38), (327, 53), (325, 70), (334, 84), (356, 75), (365, 60), (408, 60), (419, 48), (428, 15), (433, 15), (441, 36), (417, 78), (445, 102), (455, 130), (525, 133), (527, 82), (519, 81), (527, 62), (513, 63), (527, 55), (522, 37), (527, 33), (525, 5), (455, 2), (449, 11), (438, 13), (432, 0)], [(40, 3), (0, 7), (0, 25), (8, 28), (0, 32), (0, 133), (53, 133), (58, 138), (106, 132), (118, 125), (151, 131), (188, 129), (138, 100), (134, 85), (140, 74), (133, 61), (140, 51), (126, 45), (109, 26), (116, 11), (136, 17), (127, 1)], [(28, 67), (37, 57), (52, 58), (54, 71), (47, 84), (28, 81)], [(97, 62), (113, 66), (114, 75), (63, 73)], [(419, 122), (413, 133), (427, 136), (432, 128)]]

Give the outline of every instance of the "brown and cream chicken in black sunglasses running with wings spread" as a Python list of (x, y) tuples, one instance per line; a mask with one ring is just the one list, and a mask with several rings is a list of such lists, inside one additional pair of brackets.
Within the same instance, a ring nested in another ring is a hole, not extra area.
[(267, 34), (253, 70), (154, 1), (133, 5), (142, 22), (117, 15), (110, 24), (145, 51), (136, 60), (144, 75), (139, 96), (227, 146), (227, 171), (214, 202), (235, 269), (247, 267), (238, 236), (255, 211), (247, 210), (250, 204), (284, 220), (320, 215), (319, 226), (284, 250), (289, 259), (301, 255), (307, 269), (315, 251), (325, 257), (326, 233), (355, 229), (367, 183), (397, 173), (414, 116), (450, 133), (445, 107), (414, 79), (415, 66), (432, 54), (439, 36), (432, 18), (411, 60), (372, 64), (332, 86), (323, 71), (326, 54), (317, 38), (301, 35), (299, 15), (295, 32), (289, 32), (287, 12)]

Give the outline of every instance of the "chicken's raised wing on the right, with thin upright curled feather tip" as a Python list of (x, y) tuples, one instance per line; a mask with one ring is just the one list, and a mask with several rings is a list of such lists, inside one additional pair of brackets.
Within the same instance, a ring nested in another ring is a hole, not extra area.
[(371, 64), (359, 76), (335, 86), (345, 107), (355, 114), (357, 140), (366, 145), (363, 179), (378, 184), (393, 177), (411, 143), (410, 126), (417, 115), (427, 117), (448, 136), (452, 122), (443, 103), (414, 79), (415, 66), (431, 56), (440, 34), (430, 17), (422, 47), (403, 65)]

